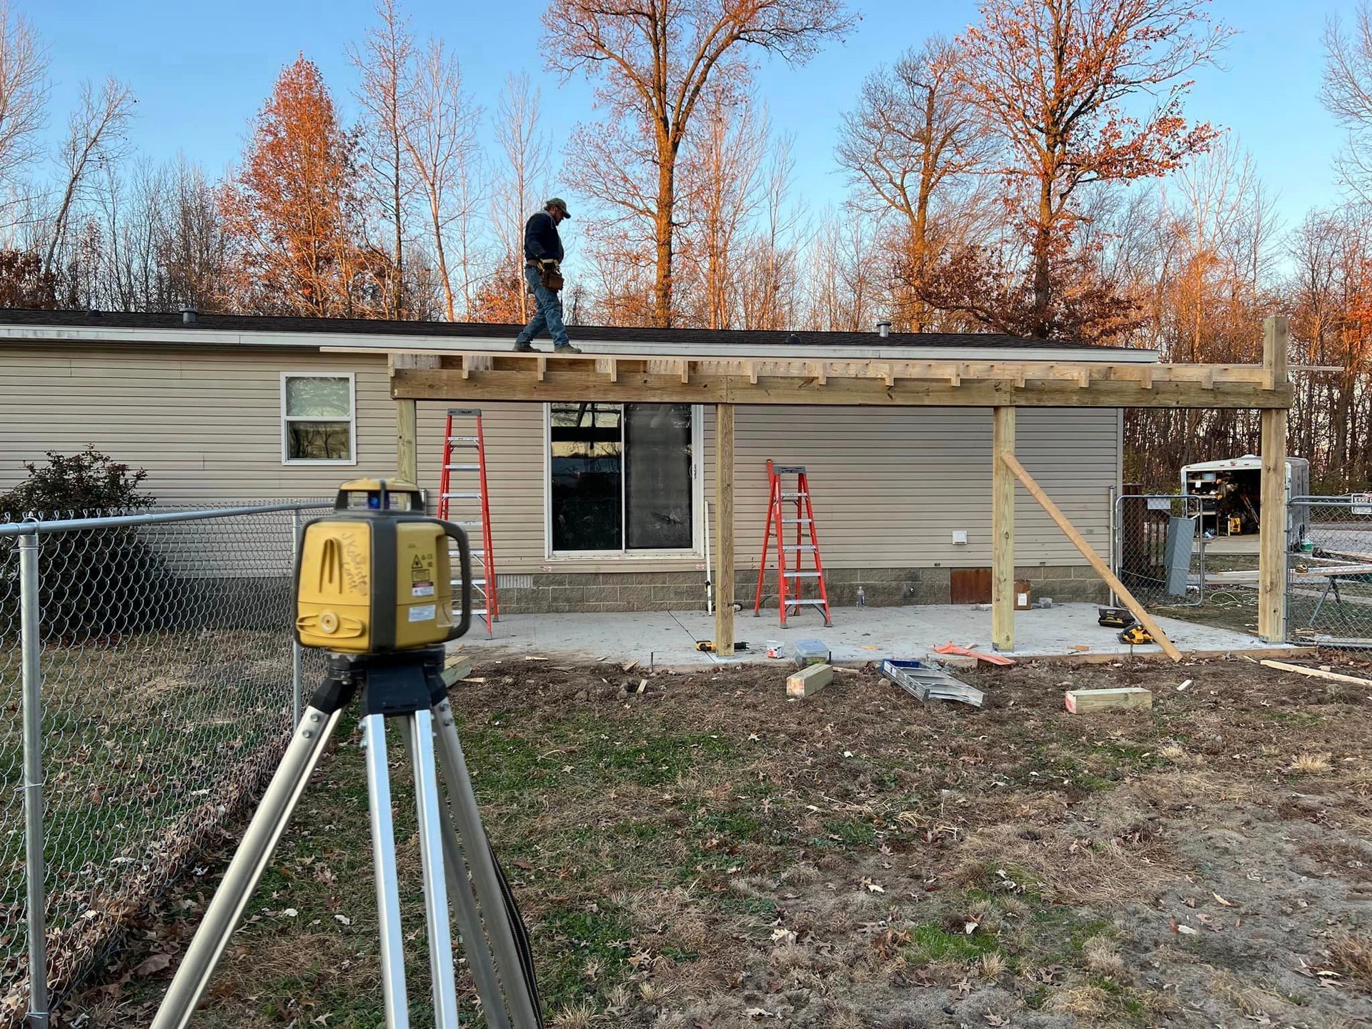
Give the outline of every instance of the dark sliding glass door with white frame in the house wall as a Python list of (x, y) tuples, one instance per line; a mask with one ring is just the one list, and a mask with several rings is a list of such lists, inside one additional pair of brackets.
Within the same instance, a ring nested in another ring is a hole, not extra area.
[(689, 403), (553, 403), (547, 427), (554, 553), (696, 546)]

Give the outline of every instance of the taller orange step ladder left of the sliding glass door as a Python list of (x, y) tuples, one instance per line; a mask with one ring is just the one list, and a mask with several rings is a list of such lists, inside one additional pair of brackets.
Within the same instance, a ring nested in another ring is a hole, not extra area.
[[(462, 460), (471, 450), (476, 451), (475, 464), (471, 458)], [(472, 615), (486, 623), (486, 635), (490, 637), (493, 626), (501, 620), (501, 605), (495, 590), (495, 550), (491, 546), (491, 501), (486, 488), (486, 436), (477, 407), (447, 410), (438, 516), (466, 530), (472, 546)], [(456, 561), (453, 568), (457, 568)], [(461, 582), (454, 580), (453, 595), (461, 597)]]

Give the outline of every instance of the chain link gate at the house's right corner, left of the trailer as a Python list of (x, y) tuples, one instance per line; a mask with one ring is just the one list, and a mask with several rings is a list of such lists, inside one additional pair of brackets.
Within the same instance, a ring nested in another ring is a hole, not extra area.
[(1111, 564), (1144, 606), (1205, 601), (1205, 535), (1199, 497), (1124, 494), (1115, 499)]

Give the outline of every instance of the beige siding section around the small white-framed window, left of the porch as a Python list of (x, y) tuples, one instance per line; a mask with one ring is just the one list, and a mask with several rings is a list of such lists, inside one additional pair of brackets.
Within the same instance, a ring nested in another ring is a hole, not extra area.
[[(354, 372), (357, 464), (281, 464), (281, 373)], [(383, 359), (310, 351), (166, 353), (0, 348), (0, 488), (23, 461), (93, 443), (145, 468), (159, 502), (332, 495), (343, 479), (395, 468)]]

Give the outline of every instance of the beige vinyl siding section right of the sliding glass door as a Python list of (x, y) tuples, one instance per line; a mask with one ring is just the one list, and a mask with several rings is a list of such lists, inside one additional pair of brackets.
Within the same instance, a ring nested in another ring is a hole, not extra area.
[[(713, 412), (707, 421), (713, 497)], [(1018, 412), (1021, 462), (1083, 535), (1109, 550), (1109, 488), (1120, 475), (1114, 410)], [(767, 516), (767, 458), (804, 465), (825, 565), (991, 564), (991, 410), (982, 407), (737, 407), (735, 564), (756, 568)], [(967, 543), (955, 545), (955, 530)], [(1022, 488), (1019, 565), (1085, 564)], [(771, 560), (775, 560), (772, 556)]]

